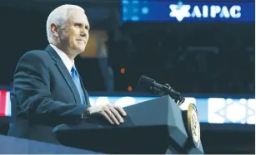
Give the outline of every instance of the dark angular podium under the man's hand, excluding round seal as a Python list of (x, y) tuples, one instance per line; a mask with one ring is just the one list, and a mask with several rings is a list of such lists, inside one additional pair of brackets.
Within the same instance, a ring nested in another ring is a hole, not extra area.
[(81, 124), (62, 124), (53, 129), (63, 145), (111, 154), (203, 154), (193, 146), (187, 115), (168, 95), (125, 107), (128, 116), (120, 125), (101, 117)]

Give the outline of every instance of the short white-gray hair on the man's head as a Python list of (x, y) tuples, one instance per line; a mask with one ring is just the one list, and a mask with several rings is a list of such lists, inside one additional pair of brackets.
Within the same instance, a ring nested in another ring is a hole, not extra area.
[(69, 10), (81, 10), (84, 12), (82, 7), (79, 7), (77, 5), (70, 5), (70, 4), (65, 4), (55, 8), (53, 12), (49, 14), (48, 20), (46, 22), (46, 32), (47, 32), (48, 41), (52, 39), (51, 24), (54, 23), (58, 26), (63, 26), (63, 24), (68, 20)]

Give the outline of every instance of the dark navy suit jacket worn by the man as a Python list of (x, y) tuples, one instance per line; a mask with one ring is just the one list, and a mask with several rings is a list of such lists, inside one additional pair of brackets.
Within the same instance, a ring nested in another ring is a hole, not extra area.
[[(81, 79), (81, 78), (80, 78)], [(11, 92), (12, 116), (8, 135), (58, 143), (52, 131), (58, 124), (77, 124), (88, 108), (58, 53), (48, 45), (28, 51), (18, 61)]]

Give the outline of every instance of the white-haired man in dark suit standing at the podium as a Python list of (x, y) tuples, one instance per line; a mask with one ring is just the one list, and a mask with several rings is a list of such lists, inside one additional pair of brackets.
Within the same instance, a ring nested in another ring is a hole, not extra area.
[(18, 61), (11, 93), (12, 117), (8, 135), (58, 143), (53, 128), (76, 124), (85, 116), (102, 115), (110, 124), (126, 115), (113, 104), (91, 106), (74, 65), (88, 42), (89, 23), (83, 8), (57, 7), (47, 21), (50, 45), (28, 51)]

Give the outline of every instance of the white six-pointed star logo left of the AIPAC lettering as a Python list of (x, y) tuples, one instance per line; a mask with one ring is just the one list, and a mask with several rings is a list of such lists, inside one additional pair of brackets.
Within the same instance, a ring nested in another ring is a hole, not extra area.
[(189, 5), (176, 5), (171, 4), (170, 6), (171, 12), (169, 14), (169, 17), (176, 17), (178, 22), (181, 22), (184, 17), (190, 17)]

